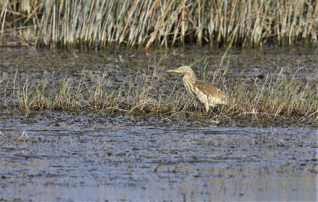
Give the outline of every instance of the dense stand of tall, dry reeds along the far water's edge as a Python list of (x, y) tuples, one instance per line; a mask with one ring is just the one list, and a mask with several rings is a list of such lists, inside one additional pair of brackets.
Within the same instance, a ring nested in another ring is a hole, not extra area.
[[(0, 44), (32, 27), (38, 48), (109, 49), (193, 44), (317, 45), (314, 0), (3, 0)], [(26, 26), (28, 25), (28, 26)]]

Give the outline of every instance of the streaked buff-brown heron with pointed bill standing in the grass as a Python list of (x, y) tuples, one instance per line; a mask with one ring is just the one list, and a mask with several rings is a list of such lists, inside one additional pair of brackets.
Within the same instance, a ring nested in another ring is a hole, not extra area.
[(181, 66), (166, 72), (183, 73), (182, 83), (191, 97), (196, 97), (198, 101), (204, 103), (206, 112), (210, 107), (218, 104), (225, 104), (227, 96), (212, 84), (197, 80), (196, 75), (189, 66)]

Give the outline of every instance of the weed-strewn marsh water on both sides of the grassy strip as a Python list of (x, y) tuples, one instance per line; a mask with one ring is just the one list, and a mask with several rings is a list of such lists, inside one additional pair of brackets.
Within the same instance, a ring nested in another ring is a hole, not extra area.
[[(112, 85), (154, 71), (164, 51), (48, 51), (1, 48), (0, 80), (29, 80), (66, 71), (96, 79), (107, 67)], [(173, 52), (173, 50), (171, 50)], [(186, 47), (163, 60), (165, 70), (211, 55), (210, 75), (225, 50)], [(261, 80), (268, 72), (317, 79), (316, 49), (232, 49), (227, 82)], [(204, 61), (194, 67), (204, 71)], [(213, 73), (212, 73), (213, 74)], [(3, 83), (2, 83), (3, 84)], [(3, 86), (3, 85), (2, 85)], [(180, 86), (181, 87), (181, 86)], [(7, 91), (12, 91), (10, 87)], [(4, 90), (0, 92), (4, 97)], [(100, 110), (14, 109), (1, 101), (1, 201), (316, 201), (318, 127), (253, 122), (214, 124), (209, 118), (110, 113)], [(189, 109), (190, 110), (190, 109)]]

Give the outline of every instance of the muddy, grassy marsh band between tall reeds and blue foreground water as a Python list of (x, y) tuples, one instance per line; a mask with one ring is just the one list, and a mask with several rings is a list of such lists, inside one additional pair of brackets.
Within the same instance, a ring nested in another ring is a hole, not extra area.
[[(169, 55), (161, 50), (1, 51), (0, 93), (5, 99), (0, 105), (9, 111), (21, 108), (26, 116), (45, 109), (95, 109), (157, 120), (180, 114), (225, 125), (315, 125), (317, 120), (316, 49), (233, 48), (223, 62), (223, 49), (190, 46)], [(179, 75), (164, 72), (191, 62), (197, 62), (192, 68), (198, 79), (213, 82), (237, 103), (204, 114), (184, 92)]]

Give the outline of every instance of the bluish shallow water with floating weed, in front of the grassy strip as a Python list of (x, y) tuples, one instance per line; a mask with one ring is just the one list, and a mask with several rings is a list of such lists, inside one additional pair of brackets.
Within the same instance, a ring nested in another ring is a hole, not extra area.
[(1, 125), (1, 200), (317, 199), (318, 129), (67, 112)]

